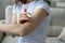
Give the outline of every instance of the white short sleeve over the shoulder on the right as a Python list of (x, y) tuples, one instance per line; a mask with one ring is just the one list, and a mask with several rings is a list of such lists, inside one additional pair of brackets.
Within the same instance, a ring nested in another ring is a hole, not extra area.
[(35, 11), (36, 11), (37, 9), (41, 9), (41, 8), (44, 9), (48, 13), (50, 13), (50, 8), (49, 8), (49, 5), (48, 5), (47, 2), (43, 2), (43, 1), (37, 2), (37, 3), (36, 3)]

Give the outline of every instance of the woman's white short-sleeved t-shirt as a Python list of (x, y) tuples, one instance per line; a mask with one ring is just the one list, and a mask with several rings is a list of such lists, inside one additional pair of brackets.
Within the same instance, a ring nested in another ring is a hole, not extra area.
[[(16, 13), (17, 15), (17, 22), (20, 14), (27, 9), (27, 12), (29, 12), (31, 15), (37, 9), (44, 9), (49, 13), (49, 5), (44, 1), (32, 1), (28, 4), (21, 4), (20, 8), (13, 6), (13, 13)], [(41, 16), (40, 16), (41, 17)], [(48, 33), (48, 26), (49, 26), (49, 16), (47, 16), (42, 23), (35, 29), (32, 32), (30, 32), (26, 37), (20, 37), (18, 43), (46, 43), (46, 37)]]

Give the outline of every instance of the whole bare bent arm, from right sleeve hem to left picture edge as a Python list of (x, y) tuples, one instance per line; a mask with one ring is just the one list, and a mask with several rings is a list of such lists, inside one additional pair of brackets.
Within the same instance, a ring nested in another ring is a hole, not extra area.
[(17, 24), (10, 24), (10, 25), (0, 24), (0, 31), (16, 34), (20, 37), (25, 37), (29, 34), (31, 31), (34, 31), (46, 16), (47, 16), (47, 12), (43, 9), (38, 9), (31, 17), (34, 22), (31, 23), (27, 22), (21, 25), (20, 24), (18, 25)]

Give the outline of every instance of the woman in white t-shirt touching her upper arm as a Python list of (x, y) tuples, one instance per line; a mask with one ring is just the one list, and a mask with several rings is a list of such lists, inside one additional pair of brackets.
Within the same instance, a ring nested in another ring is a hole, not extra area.
[(49, 6), (43, 0), (15, 0), (12, 23), (0, 24), (0, 31), (20, 35), (18, 43), (46, 43)]

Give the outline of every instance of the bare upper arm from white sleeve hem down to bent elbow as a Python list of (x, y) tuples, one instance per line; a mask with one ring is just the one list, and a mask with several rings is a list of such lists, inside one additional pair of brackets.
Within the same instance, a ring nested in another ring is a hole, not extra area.
[(31, 17), (34, 22), (25, 23), (20, 29), (23, 37), (32, 32), (36, 29), (36, 27), (38, 27), (39, 24), (43, 20), (44, 17), (47, 17), (47, 12), (43, 9), (38, 9)]

